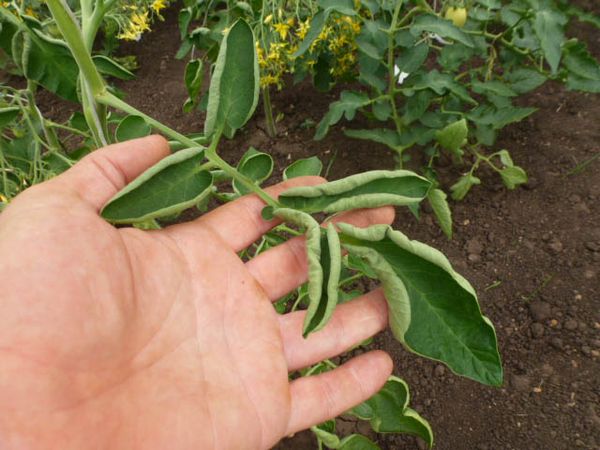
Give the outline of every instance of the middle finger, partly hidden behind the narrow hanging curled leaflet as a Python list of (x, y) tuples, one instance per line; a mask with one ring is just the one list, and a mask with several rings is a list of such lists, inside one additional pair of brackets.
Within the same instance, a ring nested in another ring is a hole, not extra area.
[[(368, 227), (394, 221), (394, 208), (384, 206), (375, 209), (349, 211), (334, 217), (334, 222), (351, 223)], [(271, 301), (283, 297), (306, 282), (308, 260), (305, 239), (299, 236), (261, 253), (246, 263), (246, 268), (262, 286)]]

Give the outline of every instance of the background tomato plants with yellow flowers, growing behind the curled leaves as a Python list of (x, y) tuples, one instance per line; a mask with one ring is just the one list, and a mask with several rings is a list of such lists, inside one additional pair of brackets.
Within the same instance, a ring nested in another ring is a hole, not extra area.
[[(435, 184), (437, 161), (450, 158), (464, 167), (450, 187), (455, 200), (480, 184), (475, 173), (482, 165), (508, 189), (527, 182), (508, 150), (494, 148), (500, 130), (536, 111), (517, 106), (518, 97), (547, 80), (600, 92), (598, 62), (585, 43), (566, 36), (573, 20), (599, 26), (600, 18), (566, 0), (189, 2), (180, 16), (180, 56), (199, 48), (214, 58), (231, 16), (244, 17), (255, 30), (271, 135), (269, 86), (281, 89), (286, 74), (294, 83), (309, 76), (319, 90), (351, 82), (331, 103), (315, 139), (350, 122), (347, 136), (387, 146), (399, 167), (417, 159)], [(194, 27), (195, 18), (201, 23)], [(358, 114), (368, 128), (352, 126)], [(444, 205), (436, 212), (447, 209), (441, 197), (430, 201)]]

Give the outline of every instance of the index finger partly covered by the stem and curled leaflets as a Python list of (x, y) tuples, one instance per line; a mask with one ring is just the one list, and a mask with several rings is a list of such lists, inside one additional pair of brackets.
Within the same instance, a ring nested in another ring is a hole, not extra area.
[[(324, 183), (321, 177), (298, 177), (283, 183), (270, 186), (265, 191), (272, 197), (295, 186), (312, 186)], [(235, 252), (245, 249), (263, 234), (281, 223), (281, 220), (264, 220), (261, 212), (265, 202), (254, 194), (244, 195), (227, 203), (198, 219), (170, 227), (170, 233), (179, 233), (180, 237), (189, 236), (193, 239), (194, 230), (198, 226), (209, 227), (218, 234), (223, 242), (227, 242)]]

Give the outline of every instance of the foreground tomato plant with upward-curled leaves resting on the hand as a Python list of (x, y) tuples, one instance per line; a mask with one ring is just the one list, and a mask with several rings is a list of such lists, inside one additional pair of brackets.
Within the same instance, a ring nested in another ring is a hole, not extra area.
[[(100, 1), (83, 7), (84, 3), (78, 19), (66, 2), (46, 2), (50, 16), (44, 26), (48, 29), (55, 27), (52, 39), (42, 39), (40, 36), (45, 28), (40, 31), (30, 19), (13, 16), (17, 17), (16, 21), (10, 17), (2, 22), (2, 39), (19, 42), (21, 35), (29, 36), (32, 42), (30, 49), (36, 48), (35, 51), (45, 55), (52, 52), (56, 58), (60, 56), (65, 68), (69, 68), (68, 71), (57, 72), (46, 68), (43, 77), (38, 76), (38, 71), (23, 70), (25, 77), (30, 82), (49, 86), (48, 89), (70, 92), (75, 95), (74, 99), (80, 99), (83, 109), (80, 116), (67, 124), (55, 124), (35, 117), (34, 104), (26, 103), (22, 98), (27, 94), (25, 91), (7, 90), (5, 98), (8, 100), (3, 99), (6, 104), (0, 110), (0, 123), (13, 124), (13, 138), (16, 138), (20, 127), (24, 127), (25, 133), (30, 133), (27, 139), (35, 141), (33, 152), (46, 156), (60, 155), (58, 150), (52, 152), (46, 148), (60, 146), (60, 142), (54, 142), (52, 133), (48, 136), (43, 132), (40, 134), (44, 127), (67, 132), (79, 130), (79, 134), (74, 133), (84, 143), (88, 141), (89, 147), (147, 135), (152, 130), (163, 133), (171, 139), (174, 152), (108, 201), (101, 211), (107, 221), (140, 228), (160, 227), (159, 220), (173, 217), (187, 208), (205, 209), (210, 198), (229, 201), (240, 195), (255, 194), (266, 205), (263, 216), (266, 219), (279, 217), (283, 224), (245, 252), (243, 257), (254, 257), (290, 236), (306, 236), (309, 279), (298, 290), (291, 306), (292, 309), (307, 309), (302, 330), (305, 337), (325, 327), (336, 306), (353, 296), (347, 291), (348, 286), (357, 277), (367, 276), (381, 282), (389, 306), (390, 328), (408, 351), (441, 361), (454, 373), (477, 382), (493, 386), (502, 383), (503, 371), (494, 327), (482, 314), (474, 289), (442, 253), (410, 240), (389, 226), (362, 229), (345, 223), (334, 227), (331, 223), (332, 216), (342, 211), (382, 205), (414, 209), (425, 199), (429, 199), (441, 217), (449, 218), (445, 194), (435, 182), (408, 170), (376, 170), (318, 186), (289, 189), (278, 199), (270, 197), (261, 188), (261, 183), (273, 170), (270, 155), (250, 148), (236, 167), (219, 155), (221, 140), (233, 137), (252, 116), (258, 103), (260, 58), (253, 28), (243, 18), (230, 18), (226, 22), (218, 45), (212, 50), (216, 54), (206, 100), (204, 128), (202, 132), (186, 136), (135, 109), (111, 89), (101, 73), (102, 68), (107, 66), (98, 64), (98, 58), (93, 54), (93, 40), (86, 40), (86, 30), (91, 33), (90, 21), (100, 23), (108, 3)], [(330, 5), (320, 11), (323, 27), (329, 16), (337, 20), (334, 14), (340, 13), (335, 2)], [(316, 15), (313, 20), (314, 17)], [(344, 21), (343, 18), (340, 20)], [(264, 18), (261, 19), (261, 23), (264, 21)], [(97, 31), (98, 27), (94, 27)], [(281, 38), (283, 28), (276, 31)], [(309, 29), (305, 39), (310, 36)], [(306, 51), (310, 50), (309, 47)], [(10, 55), (14, 58), (17, 53), (12, 48)], [(301, 47), (298, 48), (300, 50)], [(35, 53), (25, 53), (25, 57), (32, 58), (31, 61), (40, 64), (40, 67), (46, 67)], [(107, 64), (115, 73), (126, 70), (118, 63)], [(186, 78), (194, 81), (201, 76), (202, 63), (192, 61), (190, 64)], [(50, 83), (48, 80), (52, 77), (59, 83)], [(393, 83), (395, 85), (395, 80)], [(194, 83), (189, 83), (188, 88), (190, 86), (194, 87)], [(361, 101), (362, 95), (348, 92), (343, 94), (343, 99), (356, 104)], [(109, 108), (118, 113), (109, 113)], [(81, 122), (85, 125), (82, 126)], [(109, 128), (111, 124), (114, 126)], [(109, 133), (113, 128), (114, 135)], [(458, 151), (467, 139), (465, 129), (466, 119), (458, 120), (440, 130), (436, 139)], [(8, 157), (11, 154), (5, 152), (5, 142), (10, 141), (9, 145), (15, 149), (29, 149), (24, 141), (15, 143), (17, 139), (3, 140), (3, 161), (4, 155)], [(505, 166), (511, 166), (506, 152), (487, 158), (497, 158)], [(67, 166), (72, 163), (70, 159), (65, 162)], [(33, 170), (35, 176), (38, 173), (36, 168), (25, 168), (24, 172)], [(321, 168), (320, 162), (314, 158), (300, 160), (285, 169), (284, 177), (318, 174)], [(4, 173), (6, 175), (7, 172)], [(40, 181), (38, 178), (34, 178), (33, 182)], [(326, 226), (321, 226), (315, 215), (325, 216)], [(282, 299), (276, 308), (280, 311), (289, 309), (288, 300)], [(302, 375), (310, 376), (333, 367), (333, 362), (325, 361), (305, 369)], [(368, 421), (376, 432), (411, 433), (430, 446), (433, 444), (429, 424), (410, 408), (408, 386), (397, 377), (390, 378), (380, 393), (348, 411), (348, 414)], [(346, 450), (377, 448), (364, 436), (339, 438), (332, 421), (313, 427), (313, 432), (320, 446)]]

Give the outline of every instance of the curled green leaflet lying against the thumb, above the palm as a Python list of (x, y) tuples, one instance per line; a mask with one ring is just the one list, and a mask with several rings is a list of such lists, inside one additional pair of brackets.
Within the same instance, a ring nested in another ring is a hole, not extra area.
[(194, 206), (211, 192), (212, 175), (199, 170), (203, 158), (197, 148), (167, 156), (115, 195), (102, 217), (113, 223), (144, 222)]

